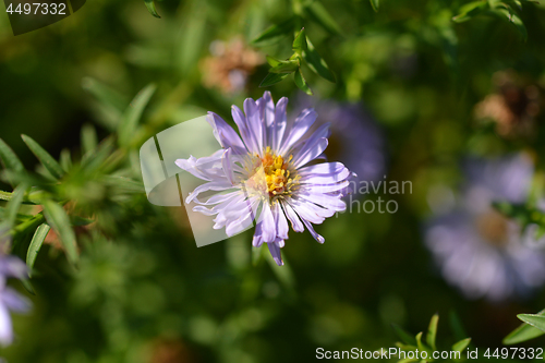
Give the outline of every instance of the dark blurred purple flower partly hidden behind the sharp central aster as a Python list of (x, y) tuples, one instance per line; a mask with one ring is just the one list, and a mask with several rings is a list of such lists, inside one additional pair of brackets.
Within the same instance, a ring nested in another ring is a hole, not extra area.
[[(314, 107), (318, 119), (314, 129), (330, 123), (329, 146), (324, 153), (331, 160), (342, 160), (356, 177), (350, 183), (360, 189), (362, 182), (383, 180), (386, 172), (386, 145), (383, 132), (361, 104), (320, 100), (298, 96), (295, 112)], [(355, 191), (352, 191), (355, 192)]]

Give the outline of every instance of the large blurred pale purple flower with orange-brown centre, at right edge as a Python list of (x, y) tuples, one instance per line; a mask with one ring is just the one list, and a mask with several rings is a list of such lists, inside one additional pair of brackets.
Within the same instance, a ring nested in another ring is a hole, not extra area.
[(427, 227), (426, 245), (443, 276), (468, 298), (500, 301), (545, 282), (545, 254), (523, 243), (522, 227), (492, 207), (525, 202), (532, 176), (525, 155), (472, 160), (459, 205)]

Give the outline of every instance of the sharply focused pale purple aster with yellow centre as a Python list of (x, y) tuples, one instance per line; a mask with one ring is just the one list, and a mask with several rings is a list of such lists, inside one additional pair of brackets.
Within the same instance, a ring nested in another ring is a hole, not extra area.
[(216, 216), (214, 228), (225, 228), (229, 237), (251, 227), (255, 218), (252, 244), (267, 243), (278, 265), (283, 264), (280, 249), (288, 239), (288, 220), (295, 232), (306, 227), (324, 243), (313, 223), (346, 209), (342, 190), (351, 177), (340, 162), (313, 162), (328, 145), (329, 124), (311, 133), (317, 113), (305, 109), (288, 122), (287, 105), (288, 98), (282, 97), (275, 106), (266, 92), (257, 100), (247, 98), (244, 113), (233, 106), (241, 136), (209, 112), (207, 120), (222, 148), (209, 157), (175, 161), (205, 181), (186, 198), (187, 204), (197, 204), (193, 210)]

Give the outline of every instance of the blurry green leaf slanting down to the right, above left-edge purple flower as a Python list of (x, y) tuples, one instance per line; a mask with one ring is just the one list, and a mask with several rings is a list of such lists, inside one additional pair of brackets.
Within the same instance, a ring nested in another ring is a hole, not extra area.
[(77, 244), (74, 230), (70, 225), (69, 216), (64, 209), (53, 201), (45, 201), (43, 207), (46, 220), (59, 235), (69, 262), (75, 265), (78, 259)]

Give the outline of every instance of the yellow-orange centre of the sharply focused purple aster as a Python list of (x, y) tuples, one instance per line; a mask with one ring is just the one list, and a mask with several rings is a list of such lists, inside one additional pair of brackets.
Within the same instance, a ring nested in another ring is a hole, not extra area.
[(250, 155), (245, 166), (250, 176), (245, 182), (246, 187), (268, 196), (271, 201), (278, 196), (291, 195), (301, 178), (291, 165), (292, 159), (292, 155), (284, 160), (281, 155), (272, 154), (269, 146), (263, 158)]

